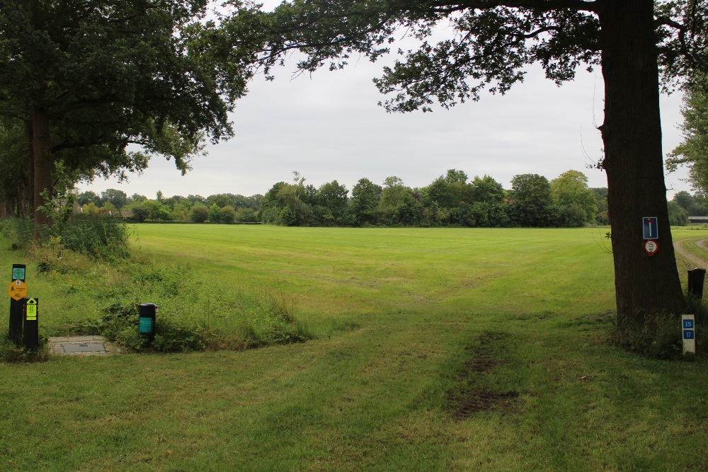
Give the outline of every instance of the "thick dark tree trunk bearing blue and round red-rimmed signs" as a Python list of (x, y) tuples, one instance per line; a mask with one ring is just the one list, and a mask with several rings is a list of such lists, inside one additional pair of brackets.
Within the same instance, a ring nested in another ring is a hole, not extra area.
[[(600, 11), (605, 79), (607, 205), (615, 258), (617, 321), (685, 308), (671, 241), (661, 150), (652, 0), (605, 2)], [(658, 253), (644, 252), (642, 217), (658, 219)]]

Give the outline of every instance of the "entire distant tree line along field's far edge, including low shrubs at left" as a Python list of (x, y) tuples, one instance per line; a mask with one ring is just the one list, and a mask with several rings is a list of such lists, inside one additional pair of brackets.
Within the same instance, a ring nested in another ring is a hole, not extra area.
[(510, 190), (489, 175), (469, 180), (450, 169), (423, 188), (391, 176), (382, 185), (361, 178), (351, 192), (337, 180), (316, 188), (295, 172), (265, 195), (188, 195), (154, 200), (108, 189), (83, 192), (84, 212), (120, 211), (132, 221), (256, 223), (283, 226), (583, 226), (608, 224), (607, 189), (588, 188), (586, 175), (568, 171), (547, 180), (515, 175)]

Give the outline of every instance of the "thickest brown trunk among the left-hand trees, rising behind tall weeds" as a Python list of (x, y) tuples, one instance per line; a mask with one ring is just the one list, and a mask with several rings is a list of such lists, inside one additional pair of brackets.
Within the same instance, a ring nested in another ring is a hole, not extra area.
[(32, 113), (32, 150), (34, 155), (33, 209), (35, 214), (35, 239), (40, 237), (40, 228), (49, 223), (49, 218), (38, 207), (45, 204), (42, 192), (52, 193), (52, 147), (47, 111), (37, 109)]

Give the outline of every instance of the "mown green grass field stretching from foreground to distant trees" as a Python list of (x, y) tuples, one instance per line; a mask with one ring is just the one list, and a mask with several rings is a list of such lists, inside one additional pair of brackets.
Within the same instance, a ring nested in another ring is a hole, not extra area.
[[(0, 469), (706, 470), (707, 362), (610, 345), (603, 234), (136, 226), (135, 253), (278, 292), (317, 338), (2, 364)], [(99, 289), (28, 284), (55, 326)]]

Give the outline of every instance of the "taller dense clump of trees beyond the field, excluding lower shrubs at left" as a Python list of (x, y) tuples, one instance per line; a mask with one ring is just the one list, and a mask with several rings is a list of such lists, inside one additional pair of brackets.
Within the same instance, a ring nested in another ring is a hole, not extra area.
[[(597, 195), (597, 196), (596, 196)], [(582, 226), (606, 222), (606, 192), (568, 171), (549, 182), (537, 174), (515, 175), (511, 190), (489, 175), (468, 181), (450, 169), (423, 188), (392, 176), (377, 185), (360, 179), (348, 190), (336, 180), (319, 188), (279, 182), (261, 201), (261, 219), (285, 226)]]

